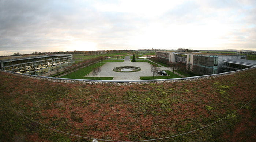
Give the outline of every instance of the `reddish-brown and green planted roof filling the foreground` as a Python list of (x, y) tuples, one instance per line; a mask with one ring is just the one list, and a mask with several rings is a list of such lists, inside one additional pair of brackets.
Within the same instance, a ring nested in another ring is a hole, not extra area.
[(154, 142), (254, 142), (255, 75), (256, 68), (207, 79), (90, 83), (0, 71), (0, 141), (146, 140), (226, 117)]

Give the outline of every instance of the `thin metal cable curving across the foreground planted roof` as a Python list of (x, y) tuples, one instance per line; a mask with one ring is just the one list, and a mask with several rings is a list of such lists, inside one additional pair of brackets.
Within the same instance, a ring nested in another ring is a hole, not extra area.
[[(255, 97), (252, 98), (249, 102), (247, 102), (244, 106), (246, 106), (248, 103), (250, 103), (253, 99), (255, 99)], [(0, 100), (1, 100), (1, 99), (0, 99)], [(4, 101), (2, 100), (2, 102), (4, 102)], [(4, 102), (4, 103), (5, 103), (5, 102)], [(5, 103), (5, 104), (6, 104), (6, 103)], [(6, 105), (8, 106), (8, 104), (6, 104)], [(240, 107), (238, 110), (242, 109), (244, 106)], [(16, 111), (13, 107), (11, 107), (11, 108), (12, 108), (14, 111)], [(213, 124), (215, 124), (215, 123), (217, 123), (217, 122), (219, 122), (219, 121), (221, 121), (221, 120), (223, 120), (223, 119), (229, 117), (230, 115), (236, 113), (238, 110), (236, 110), (236, 111), (234, 111), (233, 113), (227, 115), (226, 117), (223, 117), (222, 119), (219, 119), (218, 121), (215, 121), (215, 122), (213, 122), (213, 123), (211, 123), (211, 124), (209, 124), (209, 125), (206, 125), (206, 126), (204, 126), (204, 127), (199, 128), (199, 129), (192, 130), (192, 131), (189, 131), (189, 132), (187, 132), (187, 133), (182, 133), (182, 134), (178, 134), (178, 135), (173, 135), (173, 136), (170, 136), (170, 137), (157, 138), (157, 139), (147, 139), (147, 140), (136, 140), (136, 141), (118, 141), (118, 140), (108, 140), (108, 139), (97, 139), (97, 140), (100, 140), (100, 141), (112, 141), (112, 142), (143, 142), (143, 141), (155, 141), (155, 140), (160, 140), (160, 139), (173, 138), (173, 137), (177, 137), (177, 136), (180, 136), (180, 135), (185, 135), (185, 134), (188, 134), (188, 133), (192, 133), (192, 132), (194, 132), (194, 131), (198, 131), (198, 130), (200, 130), (200, 129), (203, 129), (203, 128), (206, 128), (206, 127), (208, 127), (208, 126), (211, 126), (211, 125), (213, 125)], [(16, 113), (19, 113), (19, 112), (16, 111)], [(80, 135), (75, 135), (75, 134), (66, 133), (66, 132), (64, 132), (64, 131), (60, 131), (60, 130), (54, 129), (54, 128), (52, 128), (52, 127), (49, 127), (49, 126), (46, 126), (46, 125), (44, 125), (44, 124), (42, 124), (42, 123), (39, 123), (39, 122), (37, 122), (37, 121), (34, 121), (33, 119), (27, 117), (26, 115), (23, 115), (22, 113), (19, 113), (19, 114), (22, 115), (22, 116), (24, 116), (24, 117), (26, 117), (26, 118), (29, 119), (30, 121), (33, 121), (33, 122), (35, 122), (35, 123), (38, 123), (39, 125), (42, 125), (42, 126), (44, 126), (44, 127), (47, 127), (47, 128), (49, 128), (49, 129), (58, 131), (58, 132), (60, 132), (60, 133), (64, 133), (64, 134), (68, 134), (68, 135), (72, 135), (72, 136), (76, 136), (76, 137), (81, 137), (81, 138), (94, 139), (94, 138), (83, 137), (83, 136), (80, 136)]]

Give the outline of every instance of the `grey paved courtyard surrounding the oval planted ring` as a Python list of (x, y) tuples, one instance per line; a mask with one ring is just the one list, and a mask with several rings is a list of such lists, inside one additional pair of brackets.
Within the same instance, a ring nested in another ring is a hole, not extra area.
[[(140, 67), (141, 70), (137, 72), (115, 72), (114, 67), (120, 66), (136, 66)], [(101, 66), (102, 77), (114, 77), (113, 80), (140, 80), (140, 76), (153, 76), (151, 72), (151, 64), (147, 62), (130, 62), (125, 60), (124, 62), (108, 62)], [(86, 77), (94, 77), (92, 73), (86, 75)]]

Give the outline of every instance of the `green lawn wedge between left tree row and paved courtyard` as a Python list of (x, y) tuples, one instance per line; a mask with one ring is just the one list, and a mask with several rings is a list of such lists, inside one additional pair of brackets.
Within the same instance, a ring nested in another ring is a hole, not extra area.
[(105, 64), (105, 63), (95, 63), (95, 64), (92, 64), (90, 66), (81, 68), (81, 69), (79, 69), (77, 71), (74, 71), (74, 72), (71, 72), (69, 74), (66, 74), (64, 76), (61, 76), (60, 78), (85, 79), (84, 76), (89, 74), (90, 72), (92, 72), (93, 68), (100, 67), (103, 64)]

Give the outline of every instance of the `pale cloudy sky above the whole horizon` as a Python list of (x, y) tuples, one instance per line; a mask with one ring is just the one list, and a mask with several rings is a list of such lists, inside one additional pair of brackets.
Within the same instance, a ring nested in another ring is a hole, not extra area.
[(256, 50), (256, 0), (0, 0), (0, 55)]

